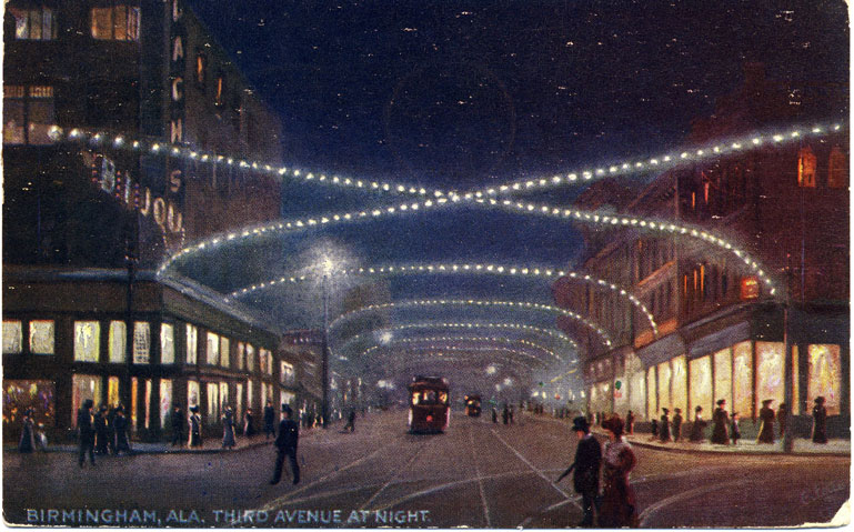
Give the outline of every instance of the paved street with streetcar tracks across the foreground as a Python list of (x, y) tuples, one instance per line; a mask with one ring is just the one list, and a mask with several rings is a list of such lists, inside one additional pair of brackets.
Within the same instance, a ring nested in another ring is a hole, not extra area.
[[(268, 483), (274, 453), (263, 445), (109, 456), (83, 470), (71, 453), (7, 452), (3, 511), (10, 522), (29, 515), (41, 524), (61, 524), (62, 510), (87, 508), (111, 510), (99, 519), (125, 520), (118, 524), (195, 526), (563, 528), (581, 520), (571, 480), (552, 483), (575, 448), (564, 421), (524, 415), (502, 425), (454, 414), (449, 431), (438, 435), (408, 434), (400, 411), (360, 418), (352, 434), (308, 431), (297, 486), (287, 474), (279, 485)], [(847, 456), (635, 451), (632, 482), (647, 528), (827, 522), (848, 498)], [(117, 509), (137, 509), (139, 519), (143, 511), (155, 513), (145, 518), (152, 522), (134, 523), (132, 513)], [(51, 518), (48, 510), (59, 512)]]

